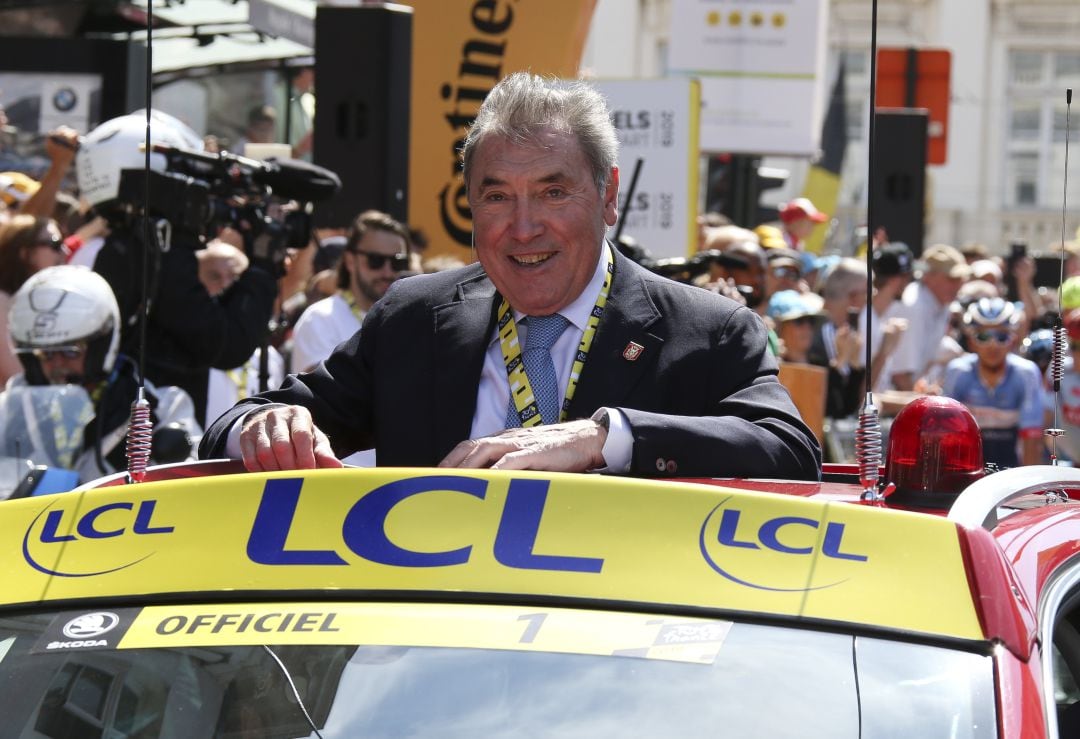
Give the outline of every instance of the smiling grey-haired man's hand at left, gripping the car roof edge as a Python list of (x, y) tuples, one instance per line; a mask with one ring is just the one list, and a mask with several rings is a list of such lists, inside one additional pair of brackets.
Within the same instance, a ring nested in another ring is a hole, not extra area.
[(343, 467), (330, 442), (299, 405), (275, 405), (244, 417), (240, 452), (248, 472)]

